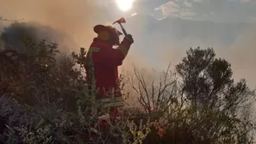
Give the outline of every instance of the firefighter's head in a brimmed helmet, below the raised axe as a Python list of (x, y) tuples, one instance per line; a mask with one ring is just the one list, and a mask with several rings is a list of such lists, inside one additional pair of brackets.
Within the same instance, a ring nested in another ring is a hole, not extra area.
[(94, 32), (98, 34), (97, 38), (107, 41), (110, 45), (120, 45), (119, 36), (122, 33), (115, 27), (97, 25), (94, 27)]

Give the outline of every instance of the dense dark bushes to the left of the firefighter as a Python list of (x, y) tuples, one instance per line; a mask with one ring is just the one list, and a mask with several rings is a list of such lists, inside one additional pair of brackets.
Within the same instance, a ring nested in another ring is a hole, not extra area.
[(107, 131), (98, 127), (107, 111), (95, 99), (96, 90), (88, 88), (83, 48), (69, 57), (45, 40), (38, 44), (28, 40), (25, 45), (24, 51), (0, 52), (1, 143), (138, 143), (143, 139), (141, 133), (133, 139), (125, 119), (107, 121)]

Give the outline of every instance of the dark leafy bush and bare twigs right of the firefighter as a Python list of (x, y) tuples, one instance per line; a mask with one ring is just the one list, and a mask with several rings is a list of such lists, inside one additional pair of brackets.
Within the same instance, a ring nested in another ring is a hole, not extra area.
[(234, 82), (230, 63), (213, 49), (190, 48), (176, 70), (159, 83), (135, 74), (140, 106), (159, 125), (145, 143), (253, 143), (255, 94), (245, 80)]

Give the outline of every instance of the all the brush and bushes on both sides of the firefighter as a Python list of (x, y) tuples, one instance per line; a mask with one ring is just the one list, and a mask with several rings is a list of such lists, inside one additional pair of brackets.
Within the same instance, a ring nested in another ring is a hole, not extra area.
[(85, 80), (84, 48), (66, 56), (57, 44), (22, 37), (14, 50), (2, 37), (0, 143), (254, 142), (254, 91), (232, 79), (231, 64), (213, 49), (190, 48), (158, 80), (134, 69), (124, 87), (133, 87), (139, 108), (106, 131), (98, 125), (107, 111)]

